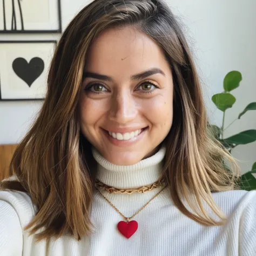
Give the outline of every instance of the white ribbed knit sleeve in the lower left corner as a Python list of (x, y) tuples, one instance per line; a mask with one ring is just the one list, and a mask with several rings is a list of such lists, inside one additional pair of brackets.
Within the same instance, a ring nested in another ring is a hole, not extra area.
[(0, 200), (0, 255), (21, 256), (22, 227), (14, 207)]

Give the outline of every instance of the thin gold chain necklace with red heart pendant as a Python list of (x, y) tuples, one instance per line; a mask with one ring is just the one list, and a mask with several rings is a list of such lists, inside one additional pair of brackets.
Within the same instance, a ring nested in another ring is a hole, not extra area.
[(122, 215), (122, 217), (126, 220), (126, 221), (119, 221), (119, 223), (117, 224), (117, 228), (119, 230), (119, 232), (121, 234), (123, 234), (126, 238), (130, 238), (138, 229), (138, 223), (136, 220), (132, 220), (130, 221), (130, 219), (132, 219), (135, 215), (137, 215), (140, 211), (142, 211), (154, 198), (156, 198), (161, 192), (163, 192), (165, 190), (165, 188), (167, 187), (167, 185), (161, 190), (159, 191), (156, 196), (152, 197), (142, 208), (140, 208), (139, 211), (137, 211), (136, 213), (134, 213), (132, 215), (132, 217), (127, 218), (125, 217), (118, 209), (116, 206), (114, 206), (111, 201), (109, 199), (107, 199), (102, 192), (99, 191), (98, 187), (97, 190), (98, 192), (102, 195), (103, 198), (106, 199), (106, 201), (120, 214)]

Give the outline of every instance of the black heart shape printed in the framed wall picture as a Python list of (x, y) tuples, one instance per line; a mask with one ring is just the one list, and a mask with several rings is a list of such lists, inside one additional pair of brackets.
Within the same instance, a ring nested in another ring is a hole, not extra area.
[(28, 63), (24, 58), (16, 58), (12, 62), (12, 69), (30, 87), (43, 73), (44, 61), (39, 57), (35, 57)]

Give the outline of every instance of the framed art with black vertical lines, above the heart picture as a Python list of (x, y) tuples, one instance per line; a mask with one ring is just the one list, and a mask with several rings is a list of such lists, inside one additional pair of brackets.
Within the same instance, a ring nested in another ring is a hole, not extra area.
[(0, 33), (60, 32), (60, 0), (0, 1)]

